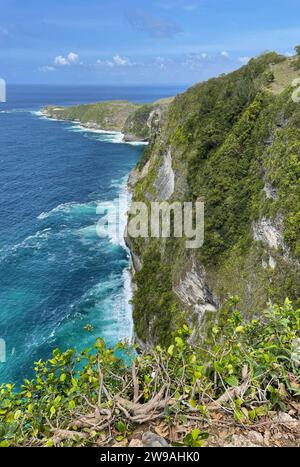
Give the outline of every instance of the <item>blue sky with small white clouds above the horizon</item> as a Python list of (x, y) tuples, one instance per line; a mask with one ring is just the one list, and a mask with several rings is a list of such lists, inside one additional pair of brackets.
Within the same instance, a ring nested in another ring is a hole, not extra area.
[(0, 0), (8, 84), (193, 84), (292, 54), (299, 0)]

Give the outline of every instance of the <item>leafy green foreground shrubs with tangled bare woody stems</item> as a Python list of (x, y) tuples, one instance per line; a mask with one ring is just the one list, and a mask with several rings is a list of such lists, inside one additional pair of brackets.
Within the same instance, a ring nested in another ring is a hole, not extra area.
[(299, 311), (286, 300), (245, 322), (233, 297), (201, 346), (184, 325), (167, 349), (136, 353), (120, 343), (110, 350), (97, 339), (80, 355), (55, 350), (19, 391), (0, 387), (0, 445), (107, 445), (162, 419), (183, 427), (176, 445), (200, 446), (209, 433), (199, 424), (209, 425), (214, 410), (244, 425), (259, 422), (300, 395)]

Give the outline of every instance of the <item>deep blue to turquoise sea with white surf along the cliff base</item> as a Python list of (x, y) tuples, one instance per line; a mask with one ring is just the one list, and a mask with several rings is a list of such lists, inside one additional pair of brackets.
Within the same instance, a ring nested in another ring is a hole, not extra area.
[[(54, 348), (81, 349), (95, 336), (113, 345), (132, 334), (128, 251), (122, 238), (99, 238), (96, 208), (126, 195), (143, 146), (47, 120), (40, 108), (149, 102), (180, 91), (8, 87), (0, 103), (0, 339), (6, 343), (0, 383), (31, 377), (33, 362)], [(87, 324), (94, 334), (83, 329)]]

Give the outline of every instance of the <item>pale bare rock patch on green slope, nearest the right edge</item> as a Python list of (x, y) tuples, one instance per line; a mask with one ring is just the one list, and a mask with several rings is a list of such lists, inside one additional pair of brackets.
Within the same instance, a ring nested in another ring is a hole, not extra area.
[(253, 238), (256, 241), (262, 241), (269, 248), (278, 250), (284, 247), (282, 237), (282, 220), (263, 218), (256, 222), (253, 226)]

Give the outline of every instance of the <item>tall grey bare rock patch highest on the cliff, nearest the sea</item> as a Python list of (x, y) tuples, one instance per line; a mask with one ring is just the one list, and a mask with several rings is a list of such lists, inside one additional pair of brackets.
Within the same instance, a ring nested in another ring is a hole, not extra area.
[(166, 201), (172, 196), (175, 189), (175, 174), (172, 168), (171, 149), (168, 149), (162, 159), (155, 181), (155, 188), (157, 199), (159, 201)]

